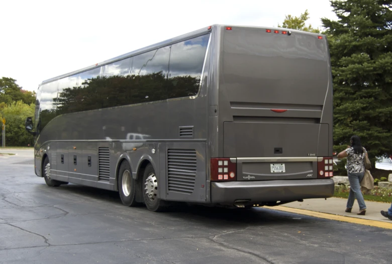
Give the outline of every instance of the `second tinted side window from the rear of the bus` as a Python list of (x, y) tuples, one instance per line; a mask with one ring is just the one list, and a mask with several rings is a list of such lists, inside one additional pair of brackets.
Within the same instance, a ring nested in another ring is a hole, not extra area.
[(133, 57), (132, 103), (167, 99), (167, 72), (170, 47), (163, 47)]

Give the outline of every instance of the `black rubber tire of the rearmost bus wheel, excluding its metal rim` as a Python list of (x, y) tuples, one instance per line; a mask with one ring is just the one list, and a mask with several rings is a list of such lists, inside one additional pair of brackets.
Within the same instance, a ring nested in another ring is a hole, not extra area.
[[(152, 198), (150, 198), (146, 194), (146, 185), (145, 183), (147, 182), (147, 179), (150, 177), (150, 175), (155, 175), (154, 178), (154, 183), (156, 183), (157, 187), (154, 188), (154, 195)], [(146, 166), (146, 169), (144, 170), (143, 174), (143, 182), (142, 182), (142, 193), (143, 193), (143, 198), (144, 198), (144, 203), (147, 207), (148, 210), (153, 211), (153, 212), (162, 212), (167, 210), (168, 208), (168, 203), (166, 201), (163, 201), (159, 199), (159, 182), (158, 182), (158, 177), (155, 174), (154, 167), (150, 164)]]

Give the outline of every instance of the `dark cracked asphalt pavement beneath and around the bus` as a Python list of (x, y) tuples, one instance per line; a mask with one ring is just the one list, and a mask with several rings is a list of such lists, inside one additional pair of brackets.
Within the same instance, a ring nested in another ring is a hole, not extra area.
[[(0, 153), (6, 152), (0, 150)], [(125, 207), (50, 188), (32, 150), (0, 156), (0, 263), (392, 263), (392, 230), (254, 208)]]

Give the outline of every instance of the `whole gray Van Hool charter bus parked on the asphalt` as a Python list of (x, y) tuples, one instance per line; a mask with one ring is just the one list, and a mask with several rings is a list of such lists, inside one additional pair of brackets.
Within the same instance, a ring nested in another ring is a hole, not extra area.
[(333, 195), (332, 111), (324, 35), (214, 25), (43, 81), (26, 129), (51, 187), (274, 206)]

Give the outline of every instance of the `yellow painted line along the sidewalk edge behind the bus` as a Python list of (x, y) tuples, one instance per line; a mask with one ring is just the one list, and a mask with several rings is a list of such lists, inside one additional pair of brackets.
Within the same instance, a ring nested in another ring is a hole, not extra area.
[(284, 211), (284, 212), (288, 212), (288, 213), (295, 213), (295, 214), (300, 214), (300, 215), (308, 215), (308, 216), (324, 218), (324, 219), (328, 219), (328, 220), (336, 220), (336, 221), (341, 221), (341, 222), (348, 222), (348, 223), (354, 223), (354, 224), (369, 225), (369, 226), (374, 226), (374, 227), (392, 229), (392, 222), (387, 223), (387, 222), (368, 220), (368, 219), (362, 219), (362, 218), (355, 218), (355, 217), (348, 217), (348, 216), (342, 216), (342, 215), (320, 213), (320, 212), (315, 212), (315, 211), (309, 211), (309, 210), (297, 209), (297, 208), (291, 208), (291, 207), (284, 207), (284, 206), (273, 206), (273, 207), (264, 207), (264, 208), (267, 208), (270, 210)]

